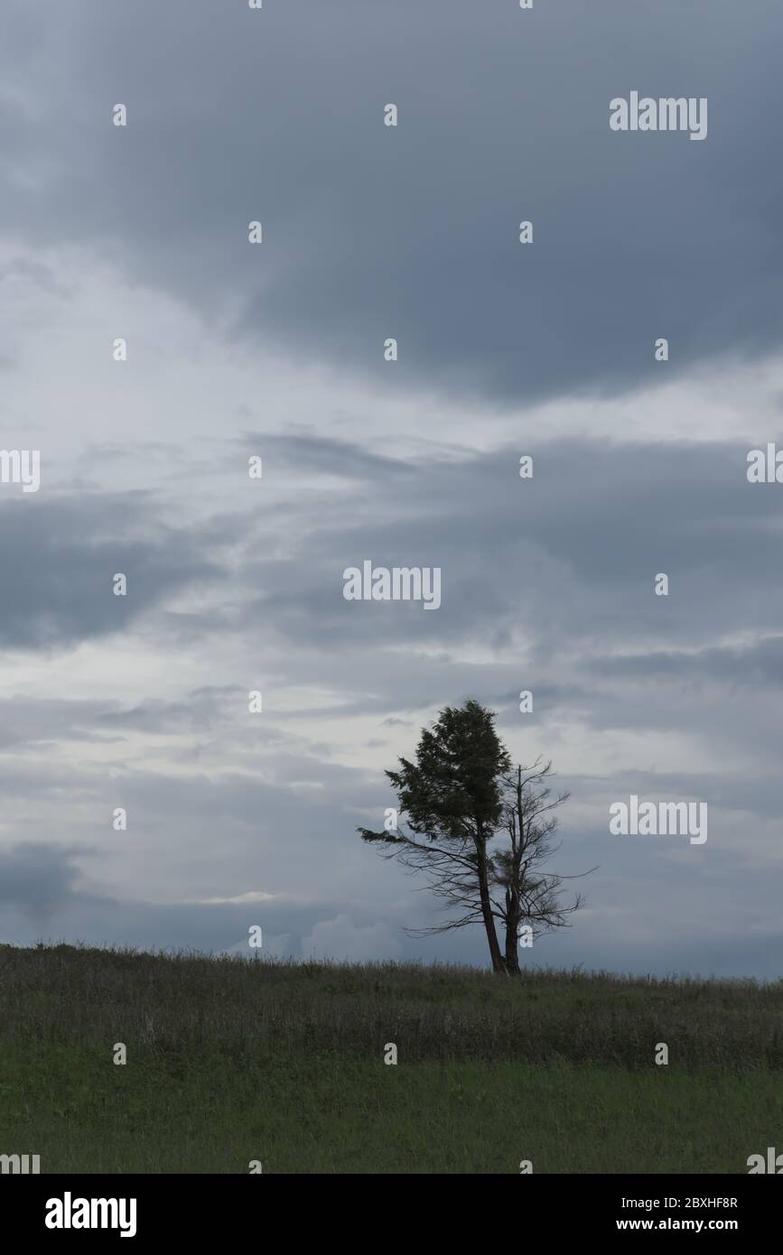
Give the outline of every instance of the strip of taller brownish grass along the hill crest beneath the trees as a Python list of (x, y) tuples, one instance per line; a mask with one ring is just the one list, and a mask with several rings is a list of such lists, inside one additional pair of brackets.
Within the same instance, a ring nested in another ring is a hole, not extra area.
[(0, 946), (0, 1040), (415, 1060), (783, 1068), (783, 981)]

